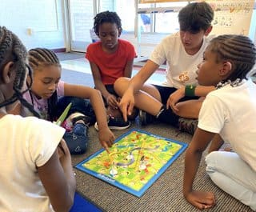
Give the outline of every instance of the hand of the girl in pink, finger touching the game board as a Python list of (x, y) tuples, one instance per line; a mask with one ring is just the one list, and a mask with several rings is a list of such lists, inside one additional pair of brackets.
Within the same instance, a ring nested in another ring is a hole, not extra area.
[(114, 134), (111, 132), (110, 128), (105, 127), (98, 130), (98, 139), (101, 142), (102, 146), (110, 153), (109, 147), (112, 146), (114, 142)]

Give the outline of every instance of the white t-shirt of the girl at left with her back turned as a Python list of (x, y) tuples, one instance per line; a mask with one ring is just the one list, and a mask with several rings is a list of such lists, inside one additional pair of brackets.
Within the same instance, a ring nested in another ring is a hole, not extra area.
[(38, 176), (65, 130), (42, 119), (7, 114), (0, 119), (0, 211), (54, 211)]

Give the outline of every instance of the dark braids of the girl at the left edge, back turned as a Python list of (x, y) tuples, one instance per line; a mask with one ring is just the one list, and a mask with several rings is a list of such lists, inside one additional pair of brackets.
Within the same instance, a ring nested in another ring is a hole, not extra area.
[[(10, 30), (7, 30), (5, 26), (0, 26), (0, 71), (8, 62), (14, 62), (14, 69), (16, 70), (16, 75), (14, 78), (14, 95), (6, 99), (4, 102), (0, 103), (0, 107), (8, 106), (17, 100), (19, 100), (23, 106), (26, 106), (28, 110), (35, 116), (39, 117), (39, 114), (33, 109), (33, 106), (22, 97), (27, 90), (23, 91), (24, 81), (26, 80), (26, 70), (29, 70), (29, 75), (31, 78), (30, 67), (26, 65), (26, 56), (27, 51), (26, 47), (23, 46), (20, 39), (12, 33)], [(28, 86), (30, 89), (31, 83)]]

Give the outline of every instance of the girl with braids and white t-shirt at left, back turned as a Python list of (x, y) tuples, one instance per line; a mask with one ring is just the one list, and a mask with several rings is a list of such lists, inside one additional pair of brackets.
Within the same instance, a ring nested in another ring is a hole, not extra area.
[(76, 182), (64, 130), (10, 114), (17, 102), (37, 114), (22, 98), (31, 75), (26, 55), (18, 37), (0, 26), (0, 211), (69, 211)]

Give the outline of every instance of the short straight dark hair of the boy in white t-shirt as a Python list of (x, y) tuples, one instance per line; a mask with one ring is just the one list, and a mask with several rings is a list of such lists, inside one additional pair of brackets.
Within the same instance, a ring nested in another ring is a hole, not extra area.
[(198, 33), (206, 31), (214, 19), (214, 10), (206, 2), (194, 2), (183, 7), (178, 13), (180, 30)]

